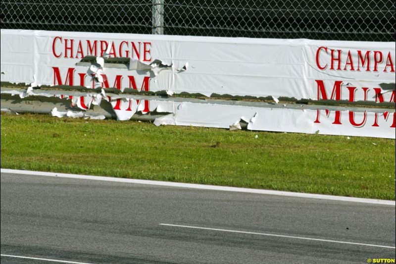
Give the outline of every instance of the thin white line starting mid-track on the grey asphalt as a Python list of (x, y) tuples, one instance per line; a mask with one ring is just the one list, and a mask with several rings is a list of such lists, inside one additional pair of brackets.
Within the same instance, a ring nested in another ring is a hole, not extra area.
[(163, 224), (163, 223), (161, 223), (161, 224), (159, 224), (159, 225), (173, 226), (173, 227), (184, 227), (184, 228), (194, 228), (194, 229), (204, 229), (204, 230), (212, 230), (212, 231), (223, 231), (223, 232), (232, 232), (232, 233), (242, 233), (242, 234), (251, 234), (251, 235), (261, 235), (261, 236), (274, 236), (274, 237), (296, 238), (296, 239), (313, 240), (313, 241), (321, 241), (321, 242), (332, 242), (332, 243), (340, 243), (340, 244), (351, 244), (351, 245), (358, 245), (358, 246), (369, 246), (369, 247), (378, 247), (378, 248), (395, 249), (395, 247), (392, 247), (392, 246), (373, 245), (373, 244), (363, 244), (363, 243), (346, 242), (346, 241), (337, 241), (337, 240), (328, 240), (328, 239), (319, 239), (319, 238), (309, 238), (309, 237), (299, 237), (299, 236), (285, 236), (285, 235), (266, 234), (266, 233), (256, 233), (256, 232), (247, 232), (247, 231), (238, 231), (238, 230), (228, 230), (228, 229), (219, 229), (219, 228), (208, 228), (208, 227), (199, 227), (199, 226), (178, 225), (178, 224)]

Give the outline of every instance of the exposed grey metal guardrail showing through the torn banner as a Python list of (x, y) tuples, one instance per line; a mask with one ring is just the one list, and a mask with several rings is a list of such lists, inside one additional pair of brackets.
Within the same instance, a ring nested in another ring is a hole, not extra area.
[[(8, 108), (15, 112), (34, 112), (34, 113), (49, 113), (53, 107), (58, 107), (58, 109), (62, 110), (75, 110), (81, 111), (76, 106), (72, 106), (70, 100), (66, 100), (67, 96), (85, 96), (85, 95), (94, 95), (99, 94), (100, 90), (96, 89), (88, 89), (84, 87), (71, 87), (72, 89), (68, 89), (66, 87), (58, 86), (58, 89), (54, 90), (54, 87), (43, 88), (43, 89), (35, 89), (34, 96), (26, 96), (21, 98), (18, 94), (12, 95), (7, 93), (6, 91), (15, 91), (19, 93), (26, 92), (26, 88), (24, 87), (4, 87), (1, 86), (1, 108)], [(195, 96), (174, 96), (168, 97), (166, 96), (166, 92), (159, 92), (156, 94), (152, 93), (129, 93), (126, 89), (124, 93), (120, 93), (117, 89), (105, 89), (106, 95), (113, 96), (122, 96), (125, 98), (131, 98), (135, 100), (156, 100), (162, 102), (190, 102), (190, 103), (199, 103), (199, 104), (220, 104), (220, 105), (233, 105), (233, 106), (251, 106), (251, 107), (271, 107), (271, 108), (291, 108), (291, 109), (329, 109), (329, 110), (352, 110), (355, 112), (364, 112), (367, 109), (370, 109), (372, 112), (384, 112), (384, 111), (395, 111), (395, 104), (384, 102), (381, 104), (377, 104), (375, 102), (345, 102), (345, 101), (292, 101), (287, 98), (281, 99), (280, 103), (275, 103), (272, 100), (250, 100), (250, 99), (242, 99), (238, 97), (211, 97), (211, 98), (203, 98)], [(5, 92), (5, 93), (4, 93)], [(116, 92), (116, 93), (114, 93)], [(55, 95), (64, 95), (64, 99), (60, 99), (55, 97)], [(52, 95), (52, 96), (49, 96)], [(363, 103), (366, 103), (364, 105)], [(367, 108), (367, 107), (370, 108)], [(88, 113), (96, 113), (103, 114), (106, 118), (116, 118), (116, 115), (113, 111), (112, 106), (102, 100), (100, 106), (93, 106), (92, 109), (85, 110)], [(152, 121), (158, 116), (163, 116), (168, 113), (156, 113), (149, 112), (149, 114), (138, 113), (135, 116), (136, 120), (148, 120)]]

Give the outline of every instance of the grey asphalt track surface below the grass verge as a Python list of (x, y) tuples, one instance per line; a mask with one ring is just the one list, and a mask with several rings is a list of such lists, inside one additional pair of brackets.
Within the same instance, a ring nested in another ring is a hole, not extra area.
[(1, 173), (1, 264), (367, 263), (395, 206)]

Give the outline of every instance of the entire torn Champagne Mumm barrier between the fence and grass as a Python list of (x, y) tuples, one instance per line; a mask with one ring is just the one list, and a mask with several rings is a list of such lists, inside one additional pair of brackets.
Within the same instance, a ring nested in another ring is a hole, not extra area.
[(395, 42), (1, 30), (0, 50), (12, 113), (395, 138)]

